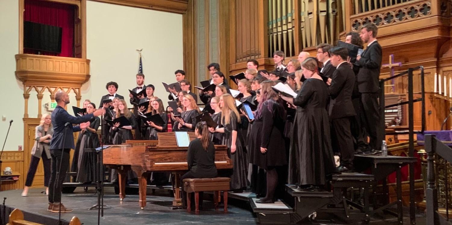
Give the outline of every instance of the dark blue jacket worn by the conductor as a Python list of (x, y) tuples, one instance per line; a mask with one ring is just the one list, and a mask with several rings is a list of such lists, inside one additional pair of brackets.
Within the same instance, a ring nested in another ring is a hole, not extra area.
[[(93, 118), (93, 114), (75, 117), (69, 115), (63, 107), (56, 106), (55, 110), (52, 112), (53, 136), (52, 141), (50, 142), (50, 150), (63, 148), (74, 149), (74, 137), (72, 133), (80, 131), (81, 129), (79, 125), (73, 127), (72, 124), (85, 123)], [(66, 123), (69, 124), (65, 129), (64, 124)], [(65, 136), (66, 138), (63, 142)]]

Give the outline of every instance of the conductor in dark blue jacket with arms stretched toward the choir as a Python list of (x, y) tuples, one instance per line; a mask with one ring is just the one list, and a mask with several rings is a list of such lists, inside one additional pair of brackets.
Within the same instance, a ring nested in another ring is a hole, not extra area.
[[(89, 120), (105, 113), (103, 108), (80, 117), (69, 115), (64, 109), (69, 104), (66, 92), (55, 93), (56, 108), (52, 112), (53, 136), (50, 142), (51, 175), (49, 181), (49, 207), (47, 211), (59, 212), (61, 204), (61, 187), (69, 166), (69, 152), (74, 147), (73, 133), (89, 127)], [(72, 124), (80, 124), (75, 127)], [(62, 156), (62, 160), (61, 160)], [(61, 170), (60, 170), (61, 167)], [(71, 212), (61, 204), (61, 212)]]

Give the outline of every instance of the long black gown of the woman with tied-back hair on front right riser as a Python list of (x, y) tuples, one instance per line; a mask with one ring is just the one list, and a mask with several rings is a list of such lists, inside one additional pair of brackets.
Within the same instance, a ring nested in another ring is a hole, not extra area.
[(297, 106), (289, 156), (289, 183), (323, 185), (334, 171), (325, 82), (306, 79), (293, 103)]

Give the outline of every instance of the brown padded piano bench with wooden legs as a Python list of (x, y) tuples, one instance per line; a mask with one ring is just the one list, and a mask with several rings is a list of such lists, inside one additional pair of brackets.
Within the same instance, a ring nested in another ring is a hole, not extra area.
[(199, 192), (213, 191), (213, 202), (215, 210), (218, 211), (218, 202), (221, 199), (220, 192), (223, 191), (224, 212), (227, 213), (227, 193), (231, 178), (187, 178), (184, 179), (184, 191), (187, 192), (187, 212), (191, 212), (191, 197), (195, 193), (195, 214), (199, 214)]

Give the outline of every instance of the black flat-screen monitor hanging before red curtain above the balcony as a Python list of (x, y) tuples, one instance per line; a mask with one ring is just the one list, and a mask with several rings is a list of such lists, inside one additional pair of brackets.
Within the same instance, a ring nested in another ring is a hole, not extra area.
[(24, 48), (61, 53), (62, 28), (24, 21)]

